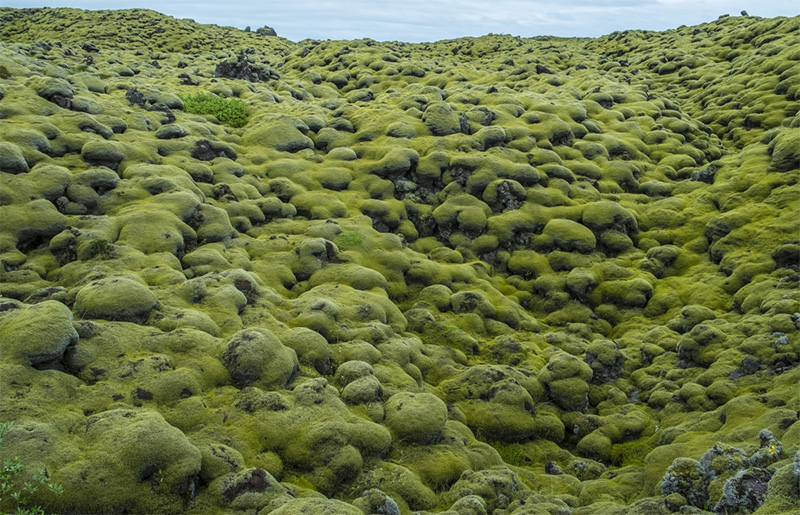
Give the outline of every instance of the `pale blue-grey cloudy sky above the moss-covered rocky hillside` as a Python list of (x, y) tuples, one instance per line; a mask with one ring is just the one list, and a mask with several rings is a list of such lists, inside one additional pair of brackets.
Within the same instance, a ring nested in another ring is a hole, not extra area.
[(154, 9), (244, 28), (268, 25), (292, 41), (372, 38), (379, 41), (438, 41), (490, 32), (514, 36), (601, 36), (615, 30), (665, 30), (738, 16), (800, 15), (798, 0), (383, 0), (258, 2), (243, 0), (152, 1), (0, 0), (6, 7)]

